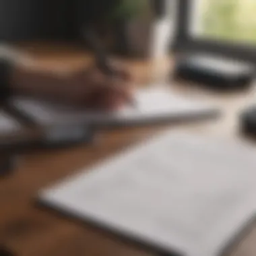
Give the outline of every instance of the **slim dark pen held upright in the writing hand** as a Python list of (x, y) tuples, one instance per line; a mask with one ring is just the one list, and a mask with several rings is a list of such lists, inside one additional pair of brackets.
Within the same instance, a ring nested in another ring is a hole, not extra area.
[[(93, 32), (91, 29), (87, 29), (84, 31), (84, 39), (86, 40), (86, 42), (88, 42), (88, 44), (94, 51), (96, 65), (98, 66), (98, 68), (109, 77), (115, 77), (116, 75), (118, 75), (118, 73), (111, 67), (110, 60), (106, 54), (106, 51), (104, 51), (104, 47), (98, 40), (95, 32)], [(123, 95), (125, 97), (125, 100), (127, 100), (127, 102), (131, 104), (131, 106), (136, 105), (135, 100), (133, 100), (129, 96), (126, 96), (125, 94)]]

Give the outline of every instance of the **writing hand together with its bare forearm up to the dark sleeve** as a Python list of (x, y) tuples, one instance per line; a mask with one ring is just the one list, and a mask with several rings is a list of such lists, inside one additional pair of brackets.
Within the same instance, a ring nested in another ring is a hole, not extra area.
[(115, 77), (104, 75), (95, 66), (73, 73), (19, 68), (13, 73), (12, 82), (22, 94), (77, 107), (115, 110), (131, 100), (133, 79), (120, 63), (113, 63), (113, 69)]

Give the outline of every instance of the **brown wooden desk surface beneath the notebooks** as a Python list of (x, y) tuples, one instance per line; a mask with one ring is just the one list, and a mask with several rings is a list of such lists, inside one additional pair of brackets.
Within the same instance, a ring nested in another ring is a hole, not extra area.
[[(82, 65), (88, 60), (81, 51), (62, 47), (27, 47), (37, 56), (42, 66)], [(136, 61), (131, 63), (138, 83), (147, 81), (149, 65)], [(79, 168), (90, 166), (98, 160), (115, 154), (128, 145), (146, 139), (162, 129), (183, 129), (191, 133), (230, 136), (237, 138), (237, 113), (255, 99), (255, 90), (241, 94), (213, 94), (185, 84), (172, 85), (172, 90), (189, 95), (191, 98), (204, 98), (218, 102), (224, 115), (218, 121), (207, 121), (191, 125), (166, 125), (122, 129), (102, 133), (101, 140), (93, 146), (79, 146), (55, 152), (33, 152), (24, 154), (20, 166), (12, 177), (0, 180), (0, 243), (20, 256), (142, 256), (152, 255), (133, 245), (121, 243), (104, 232), (86, 225), (66, 220), (33, 204), (34, 196), (53, 181), (57, 181)], [(239, 243), (233, 256), (256, 255), (256, 228)]]

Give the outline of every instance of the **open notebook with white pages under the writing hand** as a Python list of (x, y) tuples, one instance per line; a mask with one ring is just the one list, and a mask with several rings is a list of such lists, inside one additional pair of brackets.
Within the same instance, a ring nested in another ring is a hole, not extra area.
[(207, 119), (218, 114), (215, 107), (174, 96), (168, 88), (138, 90), (135, 102), (137, 106), (125, 106), (116, 113), (92, 113), (29, 98), (12, 98), (10, 104), (38, 125), (70, 122), (134, 125), (158, 121)]

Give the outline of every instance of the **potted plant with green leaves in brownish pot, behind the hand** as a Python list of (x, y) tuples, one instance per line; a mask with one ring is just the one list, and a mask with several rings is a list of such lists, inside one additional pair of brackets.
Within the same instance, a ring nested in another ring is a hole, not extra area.
[(114, 49), (118, 53), (148, 57), (152, 22), (149, 3), (149, 0), (119, 0), (111, 9), (108, 18), (114, 28)]

